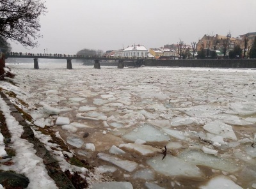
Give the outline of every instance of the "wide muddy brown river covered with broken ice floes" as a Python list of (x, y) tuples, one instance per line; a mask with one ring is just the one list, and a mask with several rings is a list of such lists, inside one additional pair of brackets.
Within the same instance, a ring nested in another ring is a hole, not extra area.
[(74, 153), (133, 188), (195, 178), (194, 188), (256, 185), (256, 70), (8, 66), (17, 87), (1, 87), (29, 103), (36, 125), (52, 126)]

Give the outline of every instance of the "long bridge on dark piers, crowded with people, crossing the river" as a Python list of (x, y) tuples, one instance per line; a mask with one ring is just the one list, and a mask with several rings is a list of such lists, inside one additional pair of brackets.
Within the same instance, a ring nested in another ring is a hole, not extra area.
[(72, 59), (93, 60), (94, 68), (100, 69), (100, 61), (118, 61), (117, 68), (124, 68), (124, 61), (134, 61), (141, 64), (145, 57), (109, 57), (109, 56), (81, 56), (81, 55), (65, 55), (65, 54), (22, 54), (8, 53), (5, 58), (33, 58), (34, 68), (39, 69), (38, 59), (67, 59), (67, 69), (72, 69)]

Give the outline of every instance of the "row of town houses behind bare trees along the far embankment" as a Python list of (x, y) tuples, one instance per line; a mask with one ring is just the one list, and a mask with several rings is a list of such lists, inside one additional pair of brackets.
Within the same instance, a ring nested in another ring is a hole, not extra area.
[[(256, 32), (243, 34), (237, 38), (232, 38), (230, 33), (228, 33), (227, 36), (222, 36), (219, 34), (216, 34), (215, 36), (209, 36), (205, 34), (200, 40), (198, 40), (198, 43), (196, 44), (196, 51), (199, 51), (203, 48), (214, 50), (218, 55), (222, 55), (221, 48), (223, 47), (224, 40), (228, 40), (228, 49), (234, 49), (236, 45), (240, 45), (241, 49), (243, 49), (245, 37), (248, 38), (248, 48), (250, 48), (255, 36)], [(186, 56), (188, 57), (193, 54), (193, 47), (191, 47), (191, 45), (184, 45), (182, 46), (182, 49), (184, 52), (186, 52)], [(150, 49), (147, 49), (144, 45), (131, 45), (131, 47), (128, 46), (125, 49), (108, 50), (104, 56), (173, 59), (180, 56), (180, 45), (164, 45), (164, 47)]]

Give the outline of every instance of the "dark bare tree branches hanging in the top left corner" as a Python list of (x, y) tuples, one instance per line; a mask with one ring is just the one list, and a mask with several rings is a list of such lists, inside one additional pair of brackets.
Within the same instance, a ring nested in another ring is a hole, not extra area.
[(40, 38), (39, 16), (46, 13), (41, 0), (1, 0), (0, 37), (18, 42), (24, 47), (36, 47)]

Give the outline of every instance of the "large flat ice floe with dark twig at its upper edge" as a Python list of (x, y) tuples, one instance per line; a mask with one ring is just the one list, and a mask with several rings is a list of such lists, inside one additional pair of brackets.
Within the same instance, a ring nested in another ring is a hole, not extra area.
[(166, 155), (163, 159), (163, 155), (155, 156), (148, 159), (147, 163), (156, 172), (164, 174), (165, 176), (185, 176), (193, 178), (202, 178), (204, 174), (201, 170), (191, 163), (184, 162), (184, 160), (172, 155)]

